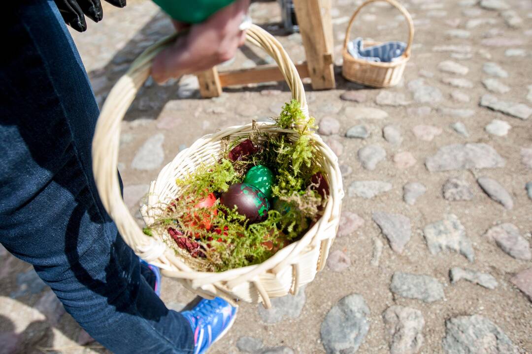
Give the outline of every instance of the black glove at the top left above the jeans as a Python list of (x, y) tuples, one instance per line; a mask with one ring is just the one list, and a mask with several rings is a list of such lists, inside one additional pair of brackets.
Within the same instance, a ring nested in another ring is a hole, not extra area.
[[(100, 0), (54, 0), (59, 12), (63, 16), (66, 24), (74, 30), (83, 32), (87, 29), (85, 15), (89, 16), (94, 22), (103, 18), (102, 4)], [(126, 0), (105, 0), (108, 3), (117, 6), (126, 6)]]

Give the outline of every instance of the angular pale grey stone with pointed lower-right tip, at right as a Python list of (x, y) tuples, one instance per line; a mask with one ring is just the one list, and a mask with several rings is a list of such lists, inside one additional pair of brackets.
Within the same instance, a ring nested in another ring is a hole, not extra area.
[(443, 220), (427, 225), (423, 229), (423, 236), (431, 254), (451, 250), (463, 255), (469, 262), (475, 261), (471, 240), (454, 214), (446, 214)]

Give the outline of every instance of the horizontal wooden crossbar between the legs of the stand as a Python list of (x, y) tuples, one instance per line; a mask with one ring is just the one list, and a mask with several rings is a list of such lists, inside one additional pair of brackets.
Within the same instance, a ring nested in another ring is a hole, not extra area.
[[(295, 66), (301, 78), (309, 77), (309, 70), (307, 68), (306, 63), (295, 64)], [(285, 78), (279, 71), (279, 67), (277, 66), (277, 64), (261, 65), (249, 69), (220, 72), (219, 76), (220, 84), (222, 87), (285, 80)]]

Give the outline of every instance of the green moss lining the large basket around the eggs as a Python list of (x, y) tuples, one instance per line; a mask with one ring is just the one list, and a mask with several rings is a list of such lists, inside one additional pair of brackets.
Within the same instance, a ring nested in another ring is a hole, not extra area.
[[(297, 101), (286, 103), (276, 118), (281, 128), (297, 134), (269, 134), (254, 127), (249, 136), (226, 141), (222, 158), (213, 165), (200, 166), (193, 174), (176, 181), (179, 198), (168, 205), (145, 233), (152, 229), (166, 232), (169, 227), (193, 235), (203, 248), (204, 258), (190, 260), (199, 270), (224, 271), (262, 263), (290, 241), (300, 238), (312, 221), (319, 217), (325, 201), (310, 188), (310, 179), (320, 167), (312, 157), (317, 148), (311, 139), (314, 120), (306, 120)], [(229, 151), (240, 141), (251, 139), (259, 151), (250, 159), (232, 163)], [(273, 196), (289, 208), (269, 210), (268, 218), (249, 224), (243, 215), (220, 204), (211, 208), (195, 208), (209, 193), (227, 191), (230, 185), (242, 183), (245, 172), (254, 165), (270, 168), (275, 177)], [(206, 223), (210, 228), (205, 229)], [(177, 246), (176, 246), (177, 249)], [(178, 250), (179, 255), (187, 253)], [(190, 257), (192, 258), (192, 257)]]

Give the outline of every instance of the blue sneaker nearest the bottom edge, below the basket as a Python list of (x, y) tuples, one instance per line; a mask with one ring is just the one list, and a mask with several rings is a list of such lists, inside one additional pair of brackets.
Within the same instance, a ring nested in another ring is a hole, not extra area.
[(194, 354), (204, 354), (212, 343), (222, 338), (236, 318), (236, 307), (219, 297), (202, 299), (194, 309), (181, 312), (194, 333)]

